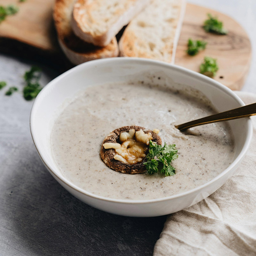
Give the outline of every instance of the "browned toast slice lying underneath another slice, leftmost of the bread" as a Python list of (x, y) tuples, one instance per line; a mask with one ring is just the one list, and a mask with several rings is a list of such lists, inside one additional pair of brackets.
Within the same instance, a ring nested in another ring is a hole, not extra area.
[(85, 61), (118, 56), (116, 37), (106, 47), (85, 43), (71, 28), (71, 16), (75, 0), (56, 0), (53, 10), (60, 47), (75, 65)]

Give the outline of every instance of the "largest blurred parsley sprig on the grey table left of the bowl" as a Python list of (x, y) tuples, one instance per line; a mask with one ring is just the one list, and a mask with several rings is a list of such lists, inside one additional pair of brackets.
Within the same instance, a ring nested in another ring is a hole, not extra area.
[(24, 79), (27, 82), (27, 85), (23, 89), (23, 96), (25, 100), (32, 100), (36, 98), (37, 94), (42, 90), (41, 85), (39, 84), (39, 79), (41, 76), (41, 68), (32, 66), (29, 71), (24, 75)]

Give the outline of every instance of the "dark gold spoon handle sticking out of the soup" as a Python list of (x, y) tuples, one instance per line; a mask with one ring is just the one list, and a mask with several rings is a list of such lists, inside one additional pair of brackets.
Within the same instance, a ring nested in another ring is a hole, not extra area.
[(185, 124), (175, 125), (175, 127), (180, 131), (184, 131), (198, 125), (217, 123), (217, 122), (255, 116), (255, 115), (256, 115), (256, 103), (253, 103), (250, 105), (246, 105), (244, 107), (231, 109), (231, 110), (221, 112), (219, 114), (215, 114), (212, 116), (206, 116), (200, 119), (196, 119)]

